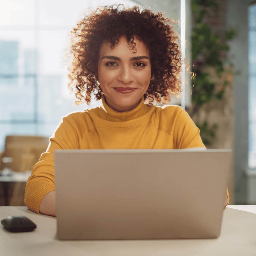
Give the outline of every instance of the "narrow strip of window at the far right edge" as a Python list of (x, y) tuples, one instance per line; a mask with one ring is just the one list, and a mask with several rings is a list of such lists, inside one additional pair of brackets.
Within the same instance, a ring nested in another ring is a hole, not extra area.
[(256, 2), (249, 6), (248, 24), (248, 167), (256, 169)]

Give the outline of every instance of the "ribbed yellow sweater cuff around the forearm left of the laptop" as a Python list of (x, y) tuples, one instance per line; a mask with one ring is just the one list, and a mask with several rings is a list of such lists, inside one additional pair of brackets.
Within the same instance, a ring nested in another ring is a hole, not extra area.
[(26, 200), (27, 207), (30, 208), (30, 210), (40, 214), (39, 205), (43, 197), (53, 190), (55, 190), (55, 184), (44, 183), (40, 185), (37, 189), (33, 191), (30, 197)]

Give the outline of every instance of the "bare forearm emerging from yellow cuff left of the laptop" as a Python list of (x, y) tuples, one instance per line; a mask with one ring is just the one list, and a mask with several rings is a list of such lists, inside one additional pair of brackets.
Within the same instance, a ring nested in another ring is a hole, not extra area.
[(48, 192), (42, 199), (39, 205), (39, 212), (41, 214), (56, 216), (56, 191)]

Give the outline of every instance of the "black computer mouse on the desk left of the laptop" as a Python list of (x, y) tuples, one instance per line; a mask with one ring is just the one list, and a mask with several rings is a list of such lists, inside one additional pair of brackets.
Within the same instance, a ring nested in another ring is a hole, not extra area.
[(36, 228), (36, 224), (23, 215), (9, 216), (2, 219), (1, 223), (10, 232), (29, 232)]

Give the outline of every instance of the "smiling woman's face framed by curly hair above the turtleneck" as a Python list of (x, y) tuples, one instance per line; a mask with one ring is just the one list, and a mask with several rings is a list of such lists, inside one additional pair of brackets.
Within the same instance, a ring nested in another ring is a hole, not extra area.
[[(136, 37), (137, 52), (128, 45), (126, 37), (114, 48), (103, 43), (98, 58), (98, 80), (105, 94), (106, 103), (115, 111), (129, 111), (139, 104), (148, 89), (151, 79), (151, 64), (148, 48)], [(118, 91), (117, 87), (136, 88)], [(129, 92), (129, 93), (121, 93)]]

